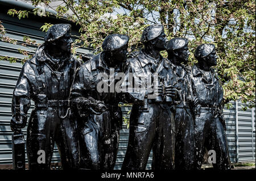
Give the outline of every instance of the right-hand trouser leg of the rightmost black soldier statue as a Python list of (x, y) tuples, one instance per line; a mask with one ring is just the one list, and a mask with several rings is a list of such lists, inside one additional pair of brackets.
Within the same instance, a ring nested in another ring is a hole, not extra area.
[(221, 121), (216, 117), (214, 119), (213, 133), (213, 146), (212, 149), (216, 152), (216, 163), (213, 163), (214, 169), (218, 170), (229, 170), (230, 158), (228, 150), (228, 142), (226, 140), (226, 134), (221, 124)]

